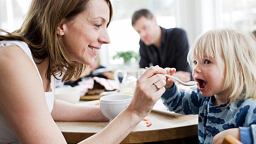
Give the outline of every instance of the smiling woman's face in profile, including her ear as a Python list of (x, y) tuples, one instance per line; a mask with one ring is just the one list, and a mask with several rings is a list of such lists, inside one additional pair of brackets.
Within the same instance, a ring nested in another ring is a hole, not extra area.
[(105, 0), (90, 0), (86, 10), (72, 20), (63, 20), (61, 40), (70, 59), (87, 65), (94, 63), (102, 44), (110, 43), (107, 24), (110, 8)]

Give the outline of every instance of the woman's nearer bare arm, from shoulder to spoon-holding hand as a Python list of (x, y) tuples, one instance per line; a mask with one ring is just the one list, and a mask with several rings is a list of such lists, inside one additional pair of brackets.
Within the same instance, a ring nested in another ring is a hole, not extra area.
[[(40, 77), (17, 46), (0, 48), (0, 108), (20, 143), (66, 143), (49, 113)], [(165, 91), (166, 72), (153, 67), (137, 81), (130, 105), (101, 132), (81, 143), (120, 143), (152, 110)], [(153, 83), (157, 83), (158, 90)]]

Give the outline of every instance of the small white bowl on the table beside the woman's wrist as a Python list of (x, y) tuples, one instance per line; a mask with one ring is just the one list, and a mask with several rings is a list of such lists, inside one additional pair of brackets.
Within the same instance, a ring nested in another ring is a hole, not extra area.
[(102, 114), (113, 120), (131, 102), (132, 95), (113, 94), (100, 98), (100, 110)]

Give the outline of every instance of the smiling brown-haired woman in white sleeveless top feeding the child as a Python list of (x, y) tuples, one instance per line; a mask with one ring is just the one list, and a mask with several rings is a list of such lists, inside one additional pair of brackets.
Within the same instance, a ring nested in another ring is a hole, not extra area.
[[(1, 144), (66, 143), (54, 120), (106, 120), (99, 109), (54, 100), (54, 76), (68, 81), (94, 62), (110, 43), (111, 17), (109, 0), (33, 0), (23, 26), (0, 36)], [(81, 143), (120, 143), (165, 91), (165, 73), (148, 69), (130, 105)]]

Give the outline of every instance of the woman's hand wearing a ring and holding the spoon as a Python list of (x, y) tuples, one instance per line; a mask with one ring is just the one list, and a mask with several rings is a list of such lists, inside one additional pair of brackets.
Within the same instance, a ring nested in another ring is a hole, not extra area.
[(127, 109), (144, 118), (165, 92), (166, 71), (159, 66), (148, 68), (137, 80), (132, 101)]

